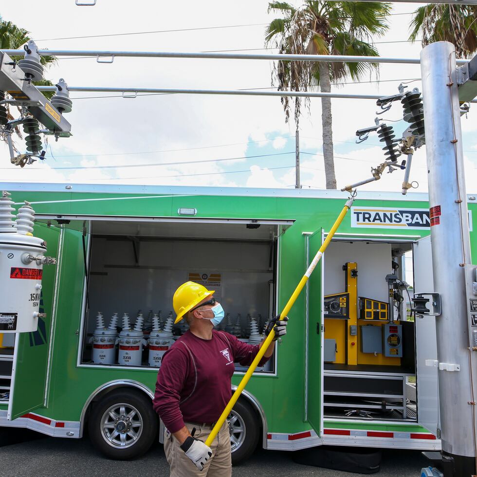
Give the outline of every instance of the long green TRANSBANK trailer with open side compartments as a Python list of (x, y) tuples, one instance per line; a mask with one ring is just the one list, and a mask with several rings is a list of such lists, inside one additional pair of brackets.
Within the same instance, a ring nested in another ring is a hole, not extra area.
[[(88, 427), (118, 459), (162, 440), (150, 405), (158, 367), (147, 347), (139, 365), (119, 365), (117, 349), (115, 362), (93, 362), (98, 312), (106, 322), (118, 313), (119, 328), (124, 313), (133, 322), (138, 310), (166, 316), (174, 290), (192, 278), (215, 287), (230, 313), (223, 326), (249, 339), (251, 322), (263, 326), (286, 303), (347, 200), (327, 190), (3, 188), (16, 206), (31, 202), (34, 235), (57, 263), (44, 270), (38, 330), (11, 343), (3, 335), (0, 425), (71, 439)], [(476, 197), (467, 199), (476, 246)], [(426, 194), (359, 193), (290, 312), (286, 339), (229, 417), (234, 461), (257, 445), (440, 449), (436, 318), (408, 310), (413, 293), (433, 292), (429, 227)], [(233, 387), (243, 372), (236, 368)], [(133, 432), (115, 429), (121, 414)]]

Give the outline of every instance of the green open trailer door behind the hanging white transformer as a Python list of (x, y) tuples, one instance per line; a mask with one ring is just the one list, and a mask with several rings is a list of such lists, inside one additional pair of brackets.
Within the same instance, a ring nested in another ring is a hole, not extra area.
[(38, 319), (38, 329), (18, 333), (13, 354), (12, 380), (7, 419), (13, 420), (42, 407), (45, 403), (45, 385), (52, 351), (52, 324), (55, 313), (55, 292), (59, 279), (62, 230), (35, 223), (35, 236), (47, 242), (48, 255), (56, 257), (56, 265), (43, 268), (39, 312), (46, 318)]

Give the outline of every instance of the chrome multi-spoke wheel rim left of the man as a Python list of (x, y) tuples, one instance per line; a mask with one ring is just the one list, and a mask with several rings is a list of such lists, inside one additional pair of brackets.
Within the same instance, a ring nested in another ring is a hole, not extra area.
[(126, 449), (134, 445), (143, 432), (143, 418), (131, 404), (112, 405), (101, 418), (101, 435), (115, 448)]

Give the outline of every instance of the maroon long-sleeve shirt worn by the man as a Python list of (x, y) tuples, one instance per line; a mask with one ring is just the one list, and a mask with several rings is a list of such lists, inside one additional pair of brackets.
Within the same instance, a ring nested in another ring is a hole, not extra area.
[(259, 346), (225, 331), (212, 330), (210, 340), (186, 331), (165, 352), (157, 374), (153, 407), (165, 427), (174, 433), (184, 422), (216, 422), (232, 396), (234, 362), (250, 365)]

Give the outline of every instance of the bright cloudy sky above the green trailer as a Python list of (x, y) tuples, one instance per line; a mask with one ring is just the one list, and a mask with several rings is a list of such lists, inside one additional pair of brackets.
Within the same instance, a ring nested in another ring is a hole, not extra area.
[[(27, 29), (42, 49), (266, 52), (265, 26), (276, 17), (267, 12), (267, 1), (184, 0), (180, 6), (97, 0), (95, 6), (79, 7), (74, 0), (49, 0), (48, 8), (38, 9), (37, 1), (23, 0), (21, 9), (15, 2), (3, 2), (0, 14)], [(418, 6), (394, 4), (388, 33), (374, 38), (380, 55), (419, 57), (421, 44), (406, 41), (410, 13)], [(162, 33), (124, 35), (158, 31)], [(95, 58), (59, 57), (45, 76), (54, 82), (62, 77), (70, 86), (233, 90), (270, 87), (272, 71), (269, 60), (119, 57), (112, 64), (99, 64)], [(397, 93), (401, 82), (408, 82), (408, 89), (421, 89), (420, 76), (419, 65), (382, 64), (378, 83), (365, 77), (359, 84), (333, 86), (332, 91), (386, 96)], [(278, 97), (123, 98), (118, 93), (72, 92), (71, 99), (73, 111), (65, 117), (73, 136), (58, 142), (49, 138), (46, 159), (24, 168), (11, 165), (6, 147), (0, 145), (0, 182), (294, 187), (295, 126), (285, 124)], [(370, 177), (371, 166), (383, 162), (376, 134), (355, 144), (355, 131), (372, 126), (376, 110), (374, 100), (332, 100), (338, 188)], [(468, 118), (462, 118), (469, 193), (477, 192), (476, 110), (473, 105)], [(406, 128), (402, 121), (395, 122), (402, 117), (399, 103), (380, 117), (398, 135)], [(303, 108), (300, 119), (304, 188), (325, 187), (321, 136), (321, 100), (312, 98), (310, 110)], [(21, 140), (18, 147), (24, 152)], [(425, 147), (414, 155), (411, 180), (418, 185), (416, 191), (427, 191)], [(362, 189), (400, 192), (402, 181), (403, 171), (396, 171)]]

